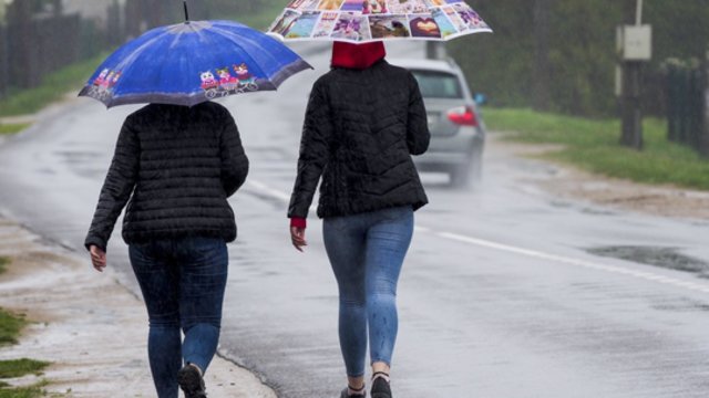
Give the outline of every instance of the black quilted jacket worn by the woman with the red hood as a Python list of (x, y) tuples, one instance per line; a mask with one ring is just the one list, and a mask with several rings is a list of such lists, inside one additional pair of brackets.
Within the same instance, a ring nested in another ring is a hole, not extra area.
[(288, 217), (306, 218), (320, 176), (321, 218), (428, 202), (411, 155), (430, 133), (413, 75), (380, 61), (333, 69), (314, 85)]

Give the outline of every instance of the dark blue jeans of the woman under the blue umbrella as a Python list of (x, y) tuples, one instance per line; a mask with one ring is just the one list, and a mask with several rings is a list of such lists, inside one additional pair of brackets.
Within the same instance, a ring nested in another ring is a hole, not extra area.
[(147, 354), (157, 396), (177, 398), (183, 358), (204, 371), (217, 349), (228, 268), (226, 242), (184, 238), (131, 244), (129, 251), (150, 317)]

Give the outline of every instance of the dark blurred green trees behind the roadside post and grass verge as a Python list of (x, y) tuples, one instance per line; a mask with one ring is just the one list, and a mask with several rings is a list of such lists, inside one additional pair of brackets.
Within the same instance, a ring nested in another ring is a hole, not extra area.
[[(635, 0), (470, 3), (494, 33), (456, 39), (449, 53), (492, 104), (593, 117), (618, 114), (613, 93), (616, 27), (635, 22)], [(643, 103), (661, 115), (659, 66), (667, 57), (703, 57), (709, 0), (645, 0), (644, 20), (653, 24), (654, 55), (646, 65)]]

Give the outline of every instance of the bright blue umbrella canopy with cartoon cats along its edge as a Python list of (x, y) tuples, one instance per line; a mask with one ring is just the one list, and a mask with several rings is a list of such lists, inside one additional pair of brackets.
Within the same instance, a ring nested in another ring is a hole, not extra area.
[(311, 66), (278, 40), (230, 21), (153, 29), (111, 54), (80, 96), (107, 107), (193, 106), (232, 94), (276, 90)]

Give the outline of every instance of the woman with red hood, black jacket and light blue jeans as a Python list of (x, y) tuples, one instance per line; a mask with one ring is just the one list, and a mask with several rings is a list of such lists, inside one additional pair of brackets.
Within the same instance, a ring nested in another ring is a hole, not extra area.
[(320, 177), (318, 216), (340, 292), (339, 337), (349, 386), (364, 397), (369, 341), (372, 398), (391, 398), (398, 329), (397, 282), (428, 200), (411, 155), (430, 133), (413, 75), (384, 61), (382, 43), (336, 42), (332, 70), (312, 87), (288, 217), (302, 251), (306, 218)]

